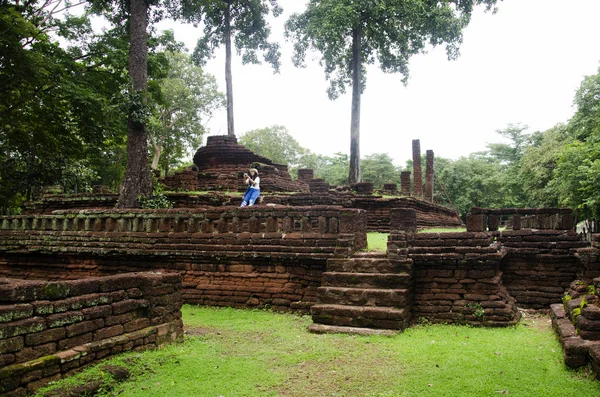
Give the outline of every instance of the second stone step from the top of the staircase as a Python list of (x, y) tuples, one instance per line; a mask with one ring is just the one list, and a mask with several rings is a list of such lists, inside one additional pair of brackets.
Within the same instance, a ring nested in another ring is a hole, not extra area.
[(324, 287), (408, 289), (410, 281), (406, 273), (323, 273)]

